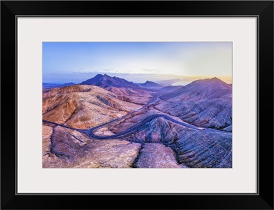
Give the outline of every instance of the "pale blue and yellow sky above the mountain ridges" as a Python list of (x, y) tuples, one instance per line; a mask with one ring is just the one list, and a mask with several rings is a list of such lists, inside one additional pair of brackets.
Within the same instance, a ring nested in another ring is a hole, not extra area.
[(44, 83), (81, 83), (97, 74), (142, 83), (218, 77), (232, 83), (232, 42), (43, 42)]

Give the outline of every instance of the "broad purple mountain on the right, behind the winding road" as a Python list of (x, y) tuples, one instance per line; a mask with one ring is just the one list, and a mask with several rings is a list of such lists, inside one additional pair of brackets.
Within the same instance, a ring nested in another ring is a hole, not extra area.
[(199, 127), (232, 131), (232, 86), (216, 77), (201, 79), (160, 96), (156, 106)]

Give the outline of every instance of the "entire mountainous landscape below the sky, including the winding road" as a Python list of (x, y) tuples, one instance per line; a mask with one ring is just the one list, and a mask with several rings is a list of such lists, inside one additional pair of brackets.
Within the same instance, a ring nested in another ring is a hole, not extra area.
[(232, 86), (43, 83), (43, 168), (232, 168)]

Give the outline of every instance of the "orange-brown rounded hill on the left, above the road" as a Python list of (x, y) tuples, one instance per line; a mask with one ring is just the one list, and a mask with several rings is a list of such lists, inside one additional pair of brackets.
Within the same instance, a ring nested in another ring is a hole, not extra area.
[(139, 107), (96, 86), (68, 86), (43, 91), (42, 118), (86, 129), (124, 116)]

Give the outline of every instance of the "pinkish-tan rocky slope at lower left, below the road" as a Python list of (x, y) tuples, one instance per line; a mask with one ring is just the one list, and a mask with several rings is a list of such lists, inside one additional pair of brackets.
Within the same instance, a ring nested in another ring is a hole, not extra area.
[(132, 168), (141, 147), (125, 140), (90, 140), (78, 131), (48, 125), (43, 134), (43, 168)]

